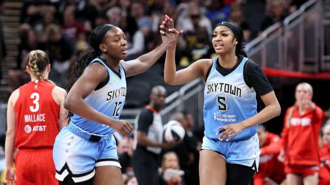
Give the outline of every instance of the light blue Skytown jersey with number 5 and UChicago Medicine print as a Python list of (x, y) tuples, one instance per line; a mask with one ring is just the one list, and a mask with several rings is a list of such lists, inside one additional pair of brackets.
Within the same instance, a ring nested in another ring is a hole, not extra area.
[[(216, 69), (215, 58), (204, 90), (205, 136), (218, 139), (215, 133), (219, 126), (240, 123), (257, 114), (256, 93), (244, 81), (244, 64), (242, 60), (235, 70), (222, 76)], [(231, 140), (246, 140), (256, 134), (257, 126), (247, 128)]]

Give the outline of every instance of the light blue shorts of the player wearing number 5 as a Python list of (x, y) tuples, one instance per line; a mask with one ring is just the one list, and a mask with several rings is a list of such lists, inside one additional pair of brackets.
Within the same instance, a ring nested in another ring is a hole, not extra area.
[[(220, 141), (218, 139), (209, 139), (204, 136), (203, 150), (212, 150), (221, 154), (228, 163), (244, 166), (259, 166), (259, 139), (258, 135), (250, 137), (247, 140), (240, 141)], [(257, 170), (257, 169), (255, 169)]]

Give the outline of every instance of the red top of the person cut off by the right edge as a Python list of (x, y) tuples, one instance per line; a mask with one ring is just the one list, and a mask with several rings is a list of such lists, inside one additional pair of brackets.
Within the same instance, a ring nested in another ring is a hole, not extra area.
[(320, 164), (319, 185), (330, 184), (330, 145), (324, 144), (322, 149), (319, 150), (318, 154), (320, 159), (326, 157), (326, 160)]

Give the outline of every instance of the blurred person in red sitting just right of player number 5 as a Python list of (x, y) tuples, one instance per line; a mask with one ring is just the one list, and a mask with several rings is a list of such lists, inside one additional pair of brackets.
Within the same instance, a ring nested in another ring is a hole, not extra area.
[(280, 136), (267, 131), (263, 124), (258, 126), (257, 134), (260, 161), (258, 172), (253, 176), (253, 185), (286, 184), (284, 165), (277, 159), (281, 150)]

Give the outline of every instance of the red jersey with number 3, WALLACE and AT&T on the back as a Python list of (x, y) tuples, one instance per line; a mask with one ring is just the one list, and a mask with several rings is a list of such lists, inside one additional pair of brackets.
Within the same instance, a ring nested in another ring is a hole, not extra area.
[(53, 147), (59, 132), (60, 108), (52, 97), (54, 87), (47, 81), (33, 81), (19, 88), (14, 106), (17, 149)]

